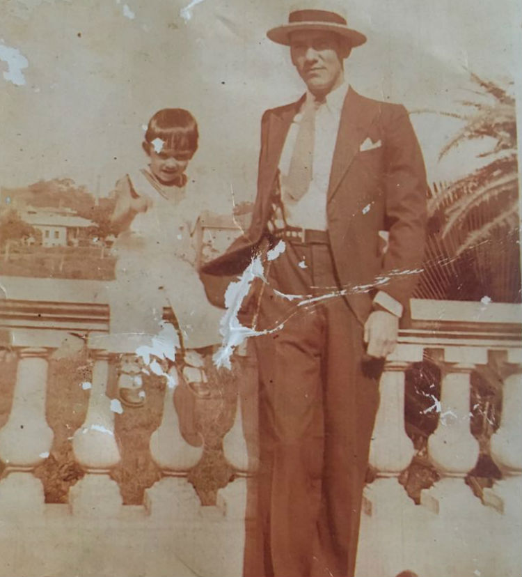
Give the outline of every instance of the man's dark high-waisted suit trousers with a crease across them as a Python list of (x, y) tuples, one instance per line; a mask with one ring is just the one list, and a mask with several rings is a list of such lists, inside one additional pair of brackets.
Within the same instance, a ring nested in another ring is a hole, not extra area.
[(328, 244), (285, 241), (269, 263), (256, 337), (260, 471), (250, 577), (353, 576), (383, 363), (365, 362), (363, 327)]

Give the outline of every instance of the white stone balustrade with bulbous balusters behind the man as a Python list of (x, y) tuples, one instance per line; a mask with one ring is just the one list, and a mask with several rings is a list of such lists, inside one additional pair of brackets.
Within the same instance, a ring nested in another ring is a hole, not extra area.
[[(26, 286), (25, 279), (20, 286)], [(0, 523), (0, 556), (13, 563), (17, 574), (37, 572), (33, 570), (40, 562), (36, 553), (42, 556), (42, 573), (56, 572), (61, 565), (55, 564), (58, 553), (53, 557), (53, 552), (64, 546), (70, 551), (68, 558), (81, 559), (78, 571), (89, 574), (96, 570), (84, 562), (85, 551), (93, 553), (89, 559), (106, 555), (104, 563), (109, 568), (113, 560), (113, 571), (125, 558), (125, 567), (164, 574), (181, 558), (187, 570), (182, 567), (177, 574), (189, 574), (188, 567), (198, 574), (220, 570), (239, 574), (246, 487), (255, 483), (255, 477), (236, 479), (220, 489), (216, 507), (200, 506), (196, 491), (183, 477), (200, 458), (202, 447), (191, 447), (180, 434), (173, 388), (166, 389), (161, 425), (150, 443), (155, 461), (172, 475), (146, 491), (142, 509), (122, 507), (118, 484), (109, 477), (120, 455), (106, 397), (109, 358), (100, 351), (105, 348), (106, 311), (100, 304), (92, 309), (74, 304), (74, 300), (94, 302), (97, 297), (79, 292), (76, 284), (68, 286), (69, 304), (7, 303), (10, 316), (0, 320), (0, 329), (10, 332), (10, 344), (19, 351), (13, 406), (0, 430), (0, 459), (8, 467), (0, 481), (0, 518), (8, 521)], [(93, 295), (101, 294), (98, 288)], [(409, 569), (425, 577), (518, 576), (522, 569), (522, 550), (517, 547), (522, 539), (520, 307), (420, 301), (413, 305), (414, 324), (401, 332), (400, 346), (389, 357), (381, 379), (381, 405), (370, 449), (377, 479), (365, 489), (356, 575), (397, 575)], [(45, 314), (40, 316), (40, 311)], [(53, 440), (45, 419), (47, 351), (60, 346), (72, 330), (88, 333), (88, 346), (96, 350), (86, 422), (73, 438), (74, 454), (87, 474), (70, 489), (68, 507), (45, 504), (42, 483), (31, 470), (45, 459)], [(91, 338), (93, 332), (97, 340)], [(413, 455), (404, 430), (404, 372), (409, 362), (421, 359), (422, 348), (444, 353), (441, 398), (434, 399), (439, 423), (429, 438), (429, 457), (441, 479), (422, 491), (421, 502), (429, 507), (414, 505), (397, 479)], [(494, 507), (483, 505), (464, 482), (478, 456), (477, 440), (470, 433), (470, 374), (477, 364), (487, 364), (490, 351), (507, 355), (509, 369), (500, 426), (491, 438), (491, 456), (503, 479), (484, 490), (484, 503)], [(241, 367), (242, 374), (247, 370)], [(254, 397), (240, 390), (234, 424), (223, 439), (226, 458), (245, 472), (251, 471), (253, 463), (248, 461), (247, 448), (251, 449), (254, 438), (255, 417), (248, 406)], [(113, 536), (110, 551), (107, 528)], [(194, 542), (200, 547), (194, 548)], [(151, 551), (168, 553), (152, 555)], [(31, 562), (26, 560), (29, 557)]]

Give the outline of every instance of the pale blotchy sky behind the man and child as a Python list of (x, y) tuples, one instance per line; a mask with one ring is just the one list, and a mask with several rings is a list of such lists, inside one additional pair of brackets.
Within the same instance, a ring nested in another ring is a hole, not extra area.
[[(438, 162), (459, 123), (433, 113), (469, 98), (470, 71), (503, 84), (520, 74), (518, 2), (340, 3), (349, 25), (368, 38), (345, 66), (354, 89), (413, 111), (430, 181), (473, 169), (488, 143)], [(266, 37), (285, 22), (288, 6), (0, 0), (0, 186), (68, 177), (108, 194), (145, 163), (141, 140), (150, 116), (184, 107), (200, 128), (189, 176), (209, 208), (223, 212), (232, 197), (253, 199), (262, 111), (303, 93), (288, 49)]]

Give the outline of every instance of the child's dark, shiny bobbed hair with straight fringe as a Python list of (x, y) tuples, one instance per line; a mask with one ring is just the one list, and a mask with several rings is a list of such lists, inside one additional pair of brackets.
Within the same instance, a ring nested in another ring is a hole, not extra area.
[(165, 148), (196, 152), (198, 148), (198, 123), (188, 110), (164, 108), (150, 118), (145, 141), (151, 144), (159, 138)]

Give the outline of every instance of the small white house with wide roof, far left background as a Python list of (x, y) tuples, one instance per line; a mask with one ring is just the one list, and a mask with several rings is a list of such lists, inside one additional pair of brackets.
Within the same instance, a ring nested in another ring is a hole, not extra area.
[(42, 246), (66, 247), (77, 246), (81, 238), (86, 235), (82, 231), (93, 222), (86, 218), (75, 215), (72, 210), (64, 208), (33, 208), (27, 207), (19, 210), (20, 218), (27, 224), (31, 224), (42, 233)]

